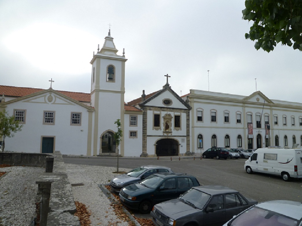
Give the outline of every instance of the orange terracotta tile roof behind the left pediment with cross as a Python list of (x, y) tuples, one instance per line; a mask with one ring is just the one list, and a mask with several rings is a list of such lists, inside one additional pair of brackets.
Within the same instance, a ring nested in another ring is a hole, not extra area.
[[(26, 95), (37, 93), (43, 90), (45, 89), (0, 85), (0, 95), (4, 94), (4, 96), (7, 97), (24, 97)], [(88, 93), (69, 92), (69, 91), (60, 91), (60, 90), (56, 90), (56, 91), (79, 102), (88, 102), (88, 103), (90, 102), (90, 94)]]

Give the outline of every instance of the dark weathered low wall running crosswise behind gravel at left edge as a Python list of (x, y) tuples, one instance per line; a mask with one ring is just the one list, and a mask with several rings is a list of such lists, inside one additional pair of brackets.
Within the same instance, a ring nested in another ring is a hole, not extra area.
[(0, 164), (13, 166), (46, 167), (47, 156), (51, 154), (0, 152)]

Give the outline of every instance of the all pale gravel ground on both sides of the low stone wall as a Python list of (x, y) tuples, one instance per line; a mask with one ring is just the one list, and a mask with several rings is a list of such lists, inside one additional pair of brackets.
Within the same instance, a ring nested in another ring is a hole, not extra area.
[[(111, 208), (110, 200), (105, 196), (99, 184), (108, 184), (117, 174), (116, 167), (65, 164), (71, 184), (83, 183), (72, 187), (75, 201), (82, 202), (91, 212), (92, 226), (127, 226), (121, 222)], [(45, 172), (40, 167), (5, 167), (8, 172), (0, 178), (0, 226), (28, 226), (35, 213), (35, 199), (38, 190), (35, 175)], [(129, 171), (120, 168), (119, 171)]]

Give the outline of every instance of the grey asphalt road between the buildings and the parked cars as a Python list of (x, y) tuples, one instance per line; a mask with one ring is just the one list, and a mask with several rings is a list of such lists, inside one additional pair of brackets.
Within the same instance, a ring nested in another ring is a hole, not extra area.
[[(96, 166), (117, 166), (117, 158), (77, 158), (63, 156), (65, 163)], [(203, 185), (222, 185), (238, 190), (244, 196), (258, 202), (286, 199), (302, 202), (302, 179), (285, 182), (281, 177), (268, 174), (248, 174), (243, 168), (246, 159), (202, 159), (196, 158), (119, 158), (120, 168), (133, 169), (141, 165), (162, 165), (174, 172), (194, 175)]]

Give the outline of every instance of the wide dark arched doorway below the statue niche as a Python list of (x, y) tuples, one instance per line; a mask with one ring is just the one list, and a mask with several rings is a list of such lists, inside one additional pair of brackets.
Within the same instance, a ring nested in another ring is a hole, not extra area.
[(173, 139), (161, 139), (156, 142), (157, 156), (178, 155), (178, 141)]

